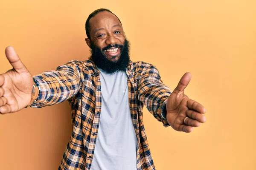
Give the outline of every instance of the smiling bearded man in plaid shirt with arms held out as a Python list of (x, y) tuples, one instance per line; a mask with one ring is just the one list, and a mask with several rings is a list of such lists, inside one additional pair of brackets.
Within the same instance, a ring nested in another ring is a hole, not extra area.
[(122, 23), (98, 9), (86, 21), (91, 57), (33, 76), (12, 47), (12, 70), (0, 75), (0, 113), (68, 100), (73, 131), (59, 170), (154, 170), (143, 125), (143, 105), (175, 130), (191, 132), (206, 121), (205, 108), (184, 94), (186, 73), (171, 93), (154, 65), (132, 62)]

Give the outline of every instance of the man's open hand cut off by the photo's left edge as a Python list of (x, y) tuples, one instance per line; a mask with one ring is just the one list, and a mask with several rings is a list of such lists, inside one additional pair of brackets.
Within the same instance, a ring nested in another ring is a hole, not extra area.
[(33, 77), (14, 49), (6, 47), (12, 69), (0, 74), (0, 113), (14, 113), (25, 108), (32, 96)]

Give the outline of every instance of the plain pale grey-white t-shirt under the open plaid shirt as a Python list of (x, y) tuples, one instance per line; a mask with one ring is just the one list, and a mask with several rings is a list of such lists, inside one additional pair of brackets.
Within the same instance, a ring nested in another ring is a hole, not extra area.
[(131, 121), (125, 71), (100, 70), (102, 108), (90, 170), (137, 170), (137, 137)]

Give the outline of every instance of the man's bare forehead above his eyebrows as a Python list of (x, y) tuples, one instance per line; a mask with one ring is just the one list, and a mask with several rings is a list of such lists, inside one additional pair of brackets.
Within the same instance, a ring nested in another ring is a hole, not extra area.
[(121, 27), (120, 21), (114, 14), (111, 14), (108, 11), (99, 12), (89, 21), (90, 32), (93, 32), (99, 28), (112, 28), (112, 26), (119, 24)]

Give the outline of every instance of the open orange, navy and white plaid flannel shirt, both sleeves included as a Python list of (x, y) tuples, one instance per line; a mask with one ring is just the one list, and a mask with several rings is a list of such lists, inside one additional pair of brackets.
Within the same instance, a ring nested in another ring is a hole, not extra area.
[[(155, 170), (143, 125), (143, 105), (167, 127), (166, 101), (171, 92), (154, 65), (130, 61), (126, 74), (138, 141), (137, 170)], [(40, 91), (30, 107), (41, 108), (65, 100), (71, 106), (73, 130), (58, 170), (90, 170), (102, 105), (99, 70), (90, 60), (72, 60), (33, 78)]]

